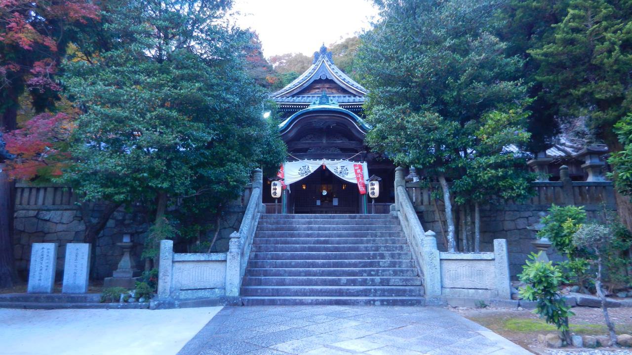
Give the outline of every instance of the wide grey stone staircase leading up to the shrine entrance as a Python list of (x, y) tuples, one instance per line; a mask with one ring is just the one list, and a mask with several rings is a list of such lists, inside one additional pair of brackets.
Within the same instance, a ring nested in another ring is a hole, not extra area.
[(423, 305), (422, 277), (391, 215), (275, 215), (258, 222), (245, 305)]

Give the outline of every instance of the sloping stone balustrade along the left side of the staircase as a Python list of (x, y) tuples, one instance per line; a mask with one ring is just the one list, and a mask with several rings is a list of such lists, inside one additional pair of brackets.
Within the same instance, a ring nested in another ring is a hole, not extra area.
[(226, 296), (239, 296), (241, 279), (246, 269), (246, 263), (252, 248), (252, 239), (257, 230), (260, 215), (264, 212), (263, 199), (263, 172), (255, 169), (252, 176), (252, 195), (246, 207), (246, 212), (241, 220), (238, 232), (233, 232), (228, 242), (226, 253)]

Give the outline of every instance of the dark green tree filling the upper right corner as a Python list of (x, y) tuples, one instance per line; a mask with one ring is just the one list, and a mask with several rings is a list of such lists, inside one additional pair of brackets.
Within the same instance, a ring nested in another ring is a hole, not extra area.
[(614, 150), (621, 143), (612, 126), (632, 108), (631, 18), (629, 1), (572, 0), (553, 35), (530, 51), (569, 131)]

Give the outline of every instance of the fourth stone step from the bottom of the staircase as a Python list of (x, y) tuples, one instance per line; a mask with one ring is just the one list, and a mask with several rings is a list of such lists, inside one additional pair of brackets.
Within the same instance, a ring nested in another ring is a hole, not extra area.
[(416, 268), (248, 268), (248, 276), (267, 277), (405, 277), (417, 276)]

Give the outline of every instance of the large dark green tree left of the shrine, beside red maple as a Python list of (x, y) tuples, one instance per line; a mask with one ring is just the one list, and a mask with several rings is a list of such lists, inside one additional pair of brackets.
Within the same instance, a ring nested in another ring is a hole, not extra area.
[(63, 180), (89, 201), (152, 202), (149, 250), (173, 237), (170, 201), (206, 198), (219, 210), (269, 160), (264, 142), (283, 150), (262, 118), (265, 92), (244, 69), (251, 33), (222, 21), (230, 6), (121, 3), (107, 28), (123, 34), (112, 49), (65, 66), (64, 85), (84, 113)]

